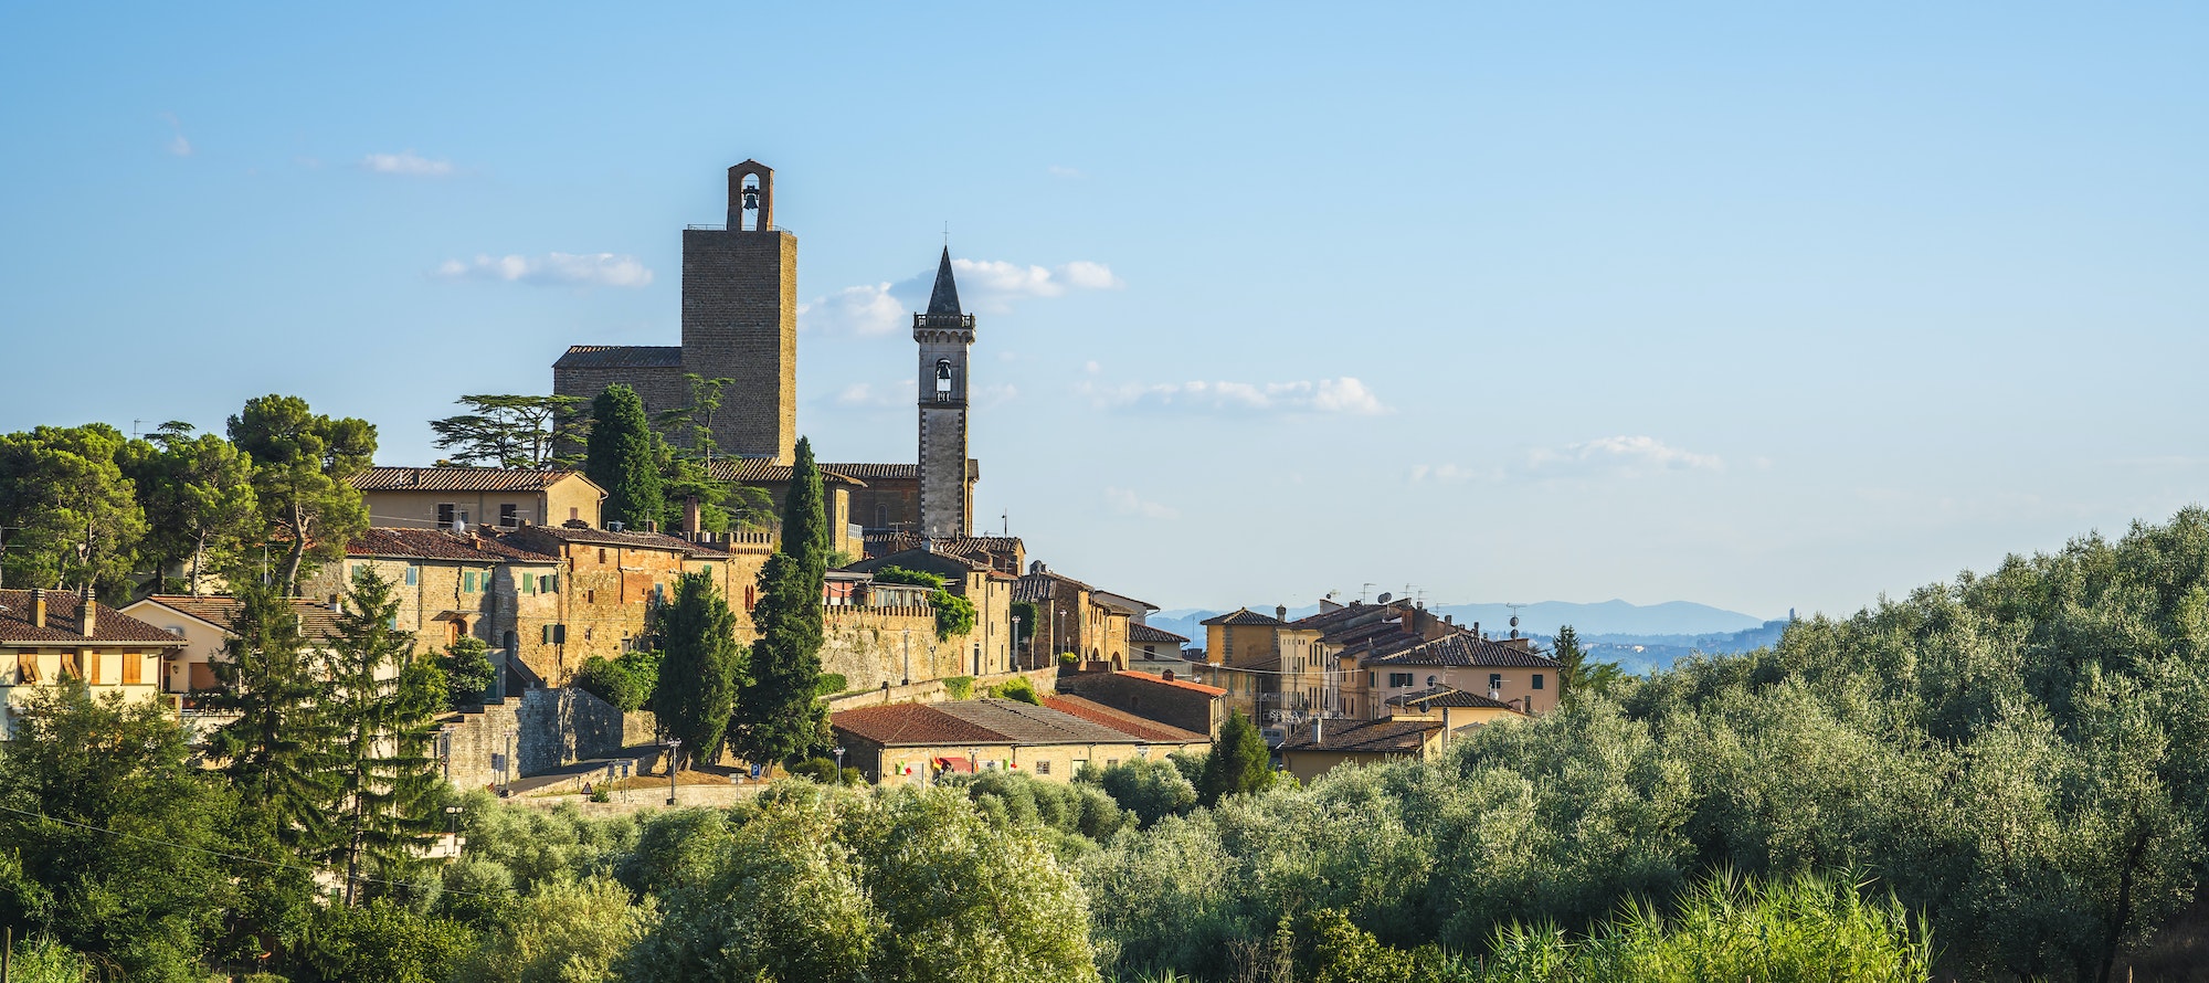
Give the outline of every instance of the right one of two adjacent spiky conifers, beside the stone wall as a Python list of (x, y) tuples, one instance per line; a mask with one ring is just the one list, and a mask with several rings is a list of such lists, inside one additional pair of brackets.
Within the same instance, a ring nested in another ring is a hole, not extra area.
[(431, 769), (437, 711), (446, 702), (444, 669), (413, 658), (413, 634), (393, 627), (400, 601), (391, 583), (362, 570), (338, 614), (329, 643), (329, 716), (338, 731), (338, 855), (345, 901), (360, 875), (404, 875), (420, 864), (415, 848), (437, 831), (437, 784)]

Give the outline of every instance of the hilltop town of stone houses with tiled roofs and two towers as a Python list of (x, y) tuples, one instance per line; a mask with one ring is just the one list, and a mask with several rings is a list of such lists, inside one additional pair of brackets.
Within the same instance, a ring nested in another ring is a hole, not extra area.
[[(289, 596), (309, 649), (340, 645), (342, 619), (362, 614), (356, 588), (380, 583), (411, 658), (464, 680), (437, 716), (431, 769), (499, 795), (680, 767), (771, 780), (831, 753), (884, 784), (976, 771), (1069, 782), (1153, 753), (1204, 755), (1230, 720), (1259, 733), (1266, 769), (1310, 780), (1431, 758), (1557, 707), (1566, 667), (1515, 627), (1495, 636), (1381, 594), (1301, 619), (1244, 607), (1186, 638), (1144, 623), (1158, 603), (1047, 561), (1087, 543), (976, 530), (968, 440), (987, 420), (968, 393), (985, 325), (959, 300), (950, 247), (937, 261), (912, 314), (912, 462), (839, 464), (833, 448), (815, 462), (802, 442), (797, 239), (775, 223), (775, 172), (758, 161), (727, 170), (722, 225), (683, 230), (680, 345), (579, 342), (552, 362), (550, 393), (468, 395), (477, 413), (435, 422), (453, 457), (380, 459), (373, 422), (314, 417), (287, 398), (256, 400), (228, 442), (179, 424), (128, 442), (97, 426), (18, 435), (9, 572), (31, 583), (0, 592), (0, 643), (18, 656), (0, 683), (9, 731), (62, 683), (155, 705), (197, 740), (236, 725), (250, 678), (230, 663), (254, 634), (241, 577)], [(616, 435), (621, 413), (645, 431)], [(300, 462), (263, 451), (300, 435), (320, 444)], [(616, 437), (656, 451), (636, 464)], [(64, 444), (104, 448), (117, 477), (110, 512), (84, 528), (38, 515), (71, 508), (35, 488), (40, 455)], [(320, 499), (278, 501), (300, 479)], [(638, 497), (636, 482), (656, 490)], [(221, 512), (225, 495), (254, 493), (256, 506)], [(683, 747), (654, 714), (674, 705), (656, 691), (702, 685), (658, 663), (676, 596), (707, 588), (749, 652), (767, 568), (791, 552), (784, 530), (804, 508), (793, 501), (815, 506), (826, 535), (808, 588), (817, 652), (797, 680), (826, 729), (775, 758), (718, 738)]]

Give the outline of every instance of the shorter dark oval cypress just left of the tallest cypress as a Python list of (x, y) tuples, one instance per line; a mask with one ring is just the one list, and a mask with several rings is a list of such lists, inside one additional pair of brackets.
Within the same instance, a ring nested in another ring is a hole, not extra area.
[(736, 711), (744, 647), (711, 577), (683, 574), (674, 603), (658, 616), (658, 636), (665, 685), (652, 691), (652, 714), (667, 736), (683, 740), (683, 760), (714, 760)]

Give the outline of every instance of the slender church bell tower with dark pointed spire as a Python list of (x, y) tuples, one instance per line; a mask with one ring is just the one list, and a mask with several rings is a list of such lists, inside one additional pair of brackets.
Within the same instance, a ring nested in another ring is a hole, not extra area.
[(968, 459), (968, 349), (974, 316), (959, 309), (952, 281), (952, 250), (943, 247), (928, 314), (912, 316), (912, 340), (921, 356), (921, 532), (963, 537), (974, 530), (974, 484)]

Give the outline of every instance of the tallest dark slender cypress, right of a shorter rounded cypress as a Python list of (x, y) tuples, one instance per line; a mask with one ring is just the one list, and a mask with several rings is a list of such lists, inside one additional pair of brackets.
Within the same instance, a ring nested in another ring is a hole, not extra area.
[(760, 605), (751, 612), (760, 638), (751, 643), (751, 672), (729, 722), (729, 747), (744, 760), (780, 762), (828, 744), (828, 709), (817, 698), (828, 541), (822, 473), (813, 466), (813, 444), (800, 437), (782, 504), (782, 548), (760, 570)]

